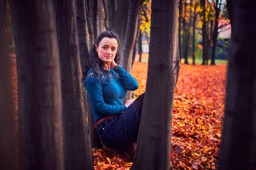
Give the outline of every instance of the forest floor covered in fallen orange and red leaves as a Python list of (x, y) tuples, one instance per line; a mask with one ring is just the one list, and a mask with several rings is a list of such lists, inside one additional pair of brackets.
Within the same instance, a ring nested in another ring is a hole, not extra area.
[[(216, 169), (223, 127), (226, 69), (227, 64), (180, 66), (173, 108), (170, 162), (173, 169)], [(139, 84), (133, 94), (136, 98), (145, 92), (147, 62), (135, 62), (132, 76)], [(17, 122), (15, 60), (12, 60), (12, 87)], [(127, 155), (115, 154), (106, 147), (93, 149), (93, 158), (95, 169), (129, 169), (132, 166)]]

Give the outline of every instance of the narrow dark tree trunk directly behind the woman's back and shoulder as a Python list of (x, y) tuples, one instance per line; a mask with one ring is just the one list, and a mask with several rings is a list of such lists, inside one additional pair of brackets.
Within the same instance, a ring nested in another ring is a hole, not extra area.
[[(90, 63), (89, 52), (87, 47), (87, 35), (86, 35), (86, 17), (84, 13), (84, 0), (76, 1), (76, 14), (77, 14), (77, 32), (78, 32), (78, 41), (79, 41), (79, 59), (81, 71), (83, 74), (83, 81), (86, 77), (86, 70), (88, 70), (88, 66)], [(84, 100), (85, 100), (85, 108), (88, 116), (88, 128), (90, 132), (90, 140), (93, 148), (101, 148), (102, 144), (100, 143), (99, 136), (94, 125), (92, 108), (90, 106), (90, 101), (88, 99), (88, 95), (86, 91), (84, 91)]]

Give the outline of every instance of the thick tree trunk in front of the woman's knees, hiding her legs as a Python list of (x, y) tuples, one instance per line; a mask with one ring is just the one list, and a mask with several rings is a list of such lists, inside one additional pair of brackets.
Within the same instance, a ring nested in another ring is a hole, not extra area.
[(179, 73), (177, 7), (177, 0), (152, 0), (148, 78), (131, 169), (170, 169), (173, 94)]

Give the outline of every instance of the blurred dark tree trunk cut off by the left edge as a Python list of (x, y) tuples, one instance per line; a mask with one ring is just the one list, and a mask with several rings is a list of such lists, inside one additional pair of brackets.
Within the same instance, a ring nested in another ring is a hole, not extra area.
[(6, 1), (0, 1), (0, 9), (0, 169), (17, 169), (10, 58), (7, 55), (8, 38), (5, 34)]

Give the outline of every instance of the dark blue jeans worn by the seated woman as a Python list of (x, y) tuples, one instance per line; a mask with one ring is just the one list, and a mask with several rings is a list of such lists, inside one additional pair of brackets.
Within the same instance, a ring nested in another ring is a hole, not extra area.
[(144, 93), (141, 94), (123, 113), (104, 120), (97, 125), (102, 143), (108, 148), (119, 149), (130, 141), (136, 142), (140, 127)]

